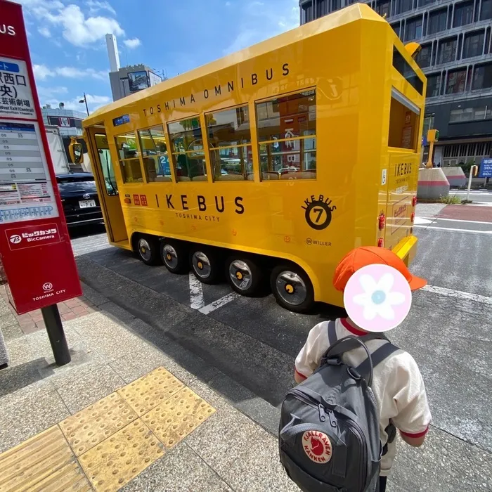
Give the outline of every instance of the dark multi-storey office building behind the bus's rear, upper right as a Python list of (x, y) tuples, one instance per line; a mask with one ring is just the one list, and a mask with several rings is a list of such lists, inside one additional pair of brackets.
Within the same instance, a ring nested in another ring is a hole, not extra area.
[[(301, 0), (301, 24), (356, 2)], [(491, 155), (492, 0), (372, 0), (403, 43), (417, 41), (427, 76), (424, 129), (439, 130), (434, 162), (477, 162)]]

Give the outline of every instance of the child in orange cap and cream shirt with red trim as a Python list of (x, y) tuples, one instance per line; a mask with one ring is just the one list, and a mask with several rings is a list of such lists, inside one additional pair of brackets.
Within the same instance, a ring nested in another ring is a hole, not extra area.
[[(358, 247), (349, 252), (335, 269), (335, 289), (343, 292), (351, 275), (359, 268), (371, 264), (386, 264), (396, 268), (408, 280), (411, 290), (420, 289), (427, 283), (422, 278), (412, 276), (394, 252), (380, 247)], [(337, 339), (367, 333), (350, 318), (338, 318), (335, 324)], [(372, 354), (384, 343), (381, 339), (373, 339), (366, 342), (366, 345)], [(306, 344), (296, 358), (294, 379), (297, 383), (305, 380), (318, 368), (328, 347), (328, 322), (323, 321), (311, 329)], [(344, 363), (356, 367), (367, 355), (361, 347), (346, 352), (342, 358)], [(374, 368), (372, 389), (379, 410), (380, 436), (384, 446), (380, 471), (380, 492), (384, 492), (387, 475), (396, 454), (396, 443), (392, 439), (388, 442), (387, 428), (390, 420), (399, 429), (403, 441), (410, 446), (422, 446), (429, 430), (431, 414), (417, 363), (406, 351), (394, 352)]]

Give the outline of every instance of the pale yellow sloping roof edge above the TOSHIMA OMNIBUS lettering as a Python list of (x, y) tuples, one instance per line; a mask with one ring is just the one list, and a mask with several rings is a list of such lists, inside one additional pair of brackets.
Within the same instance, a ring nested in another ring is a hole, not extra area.
[(207, 63), (206, 65), (202, 65), (201, 67), (194, 68), (189, 72), (176, 75), (176, 77), (171, 77), (171, 79), (164, 80), (155, 86), (149, 87), (148, 89), (143, 89), (143, 91), (138, 91), (137, 93), (131, 94), (131, 96), (126, 96), (118, 101), (115, 101), (114, 103), (105, 105), (102, 108), (92, 112), (90, 116), (86, 117), (86, 119), (84, 119), (83, 126), (90, 127), (93, 124), (101, 123), (103, 115), (108, 111), (124, 108), (126, 105), (140, 101), (143, 98), (154, 96), (155, 94), (166, 91), (167, 89), (172, 89), (173, 87), (186, 84), (187, 82), (192, 82), (200, 77), (211, 75), (219, 70), (223, 70), (226, 67), (256, 58), (264, 53), (276, 51), (278, 48), (282, 48), (283, 46), (299, 41), (299, 39), (306, 39), (306, 37), (316, 36), (321, 32), (349, 24), (349, 22), (354, 22), (355, 20), (360, 19), (375, 20), (377, 22), (387, 23), (386, 20), (375, 13), (375, 11), (373, 11), (373, 9), (366, 4), (354, 4), (347, 8), (342, 8), (340, 11), (335, 11), (334, 13), (319, 18), (318, 20), (307, 22), (302, 26), (295, 27), (293, 30), (284, 32), (283, 34), (278, 34), (276, 37), (266, 39), (266, 41), (261, 41), (258, 44), (250, 46), (249, 48), (236, 51), (231, 55), (224, 56), (224, 58), (219, 58), (219, 60), (215, 60), (211, 63)]

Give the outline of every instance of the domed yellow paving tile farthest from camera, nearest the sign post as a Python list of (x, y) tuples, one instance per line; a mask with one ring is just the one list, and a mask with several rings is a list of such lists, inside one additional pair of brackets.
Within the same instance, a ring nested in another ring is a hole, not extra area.
[(184, 384), (167, 370), (157, 368), (118, 389), (118, 393), (141, 416), (183, 387)]

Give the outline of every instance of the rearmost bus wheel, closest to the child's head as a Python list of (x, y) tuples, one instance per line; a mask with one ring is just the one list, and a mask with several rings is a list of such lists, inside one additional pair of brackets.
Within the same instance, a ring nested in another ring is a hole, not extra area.
[(314, 290), (306, 272), (295, 265), (273, 268), (270, 285), (278, 304), (296, 313), (309, 311), (314, 304)]

